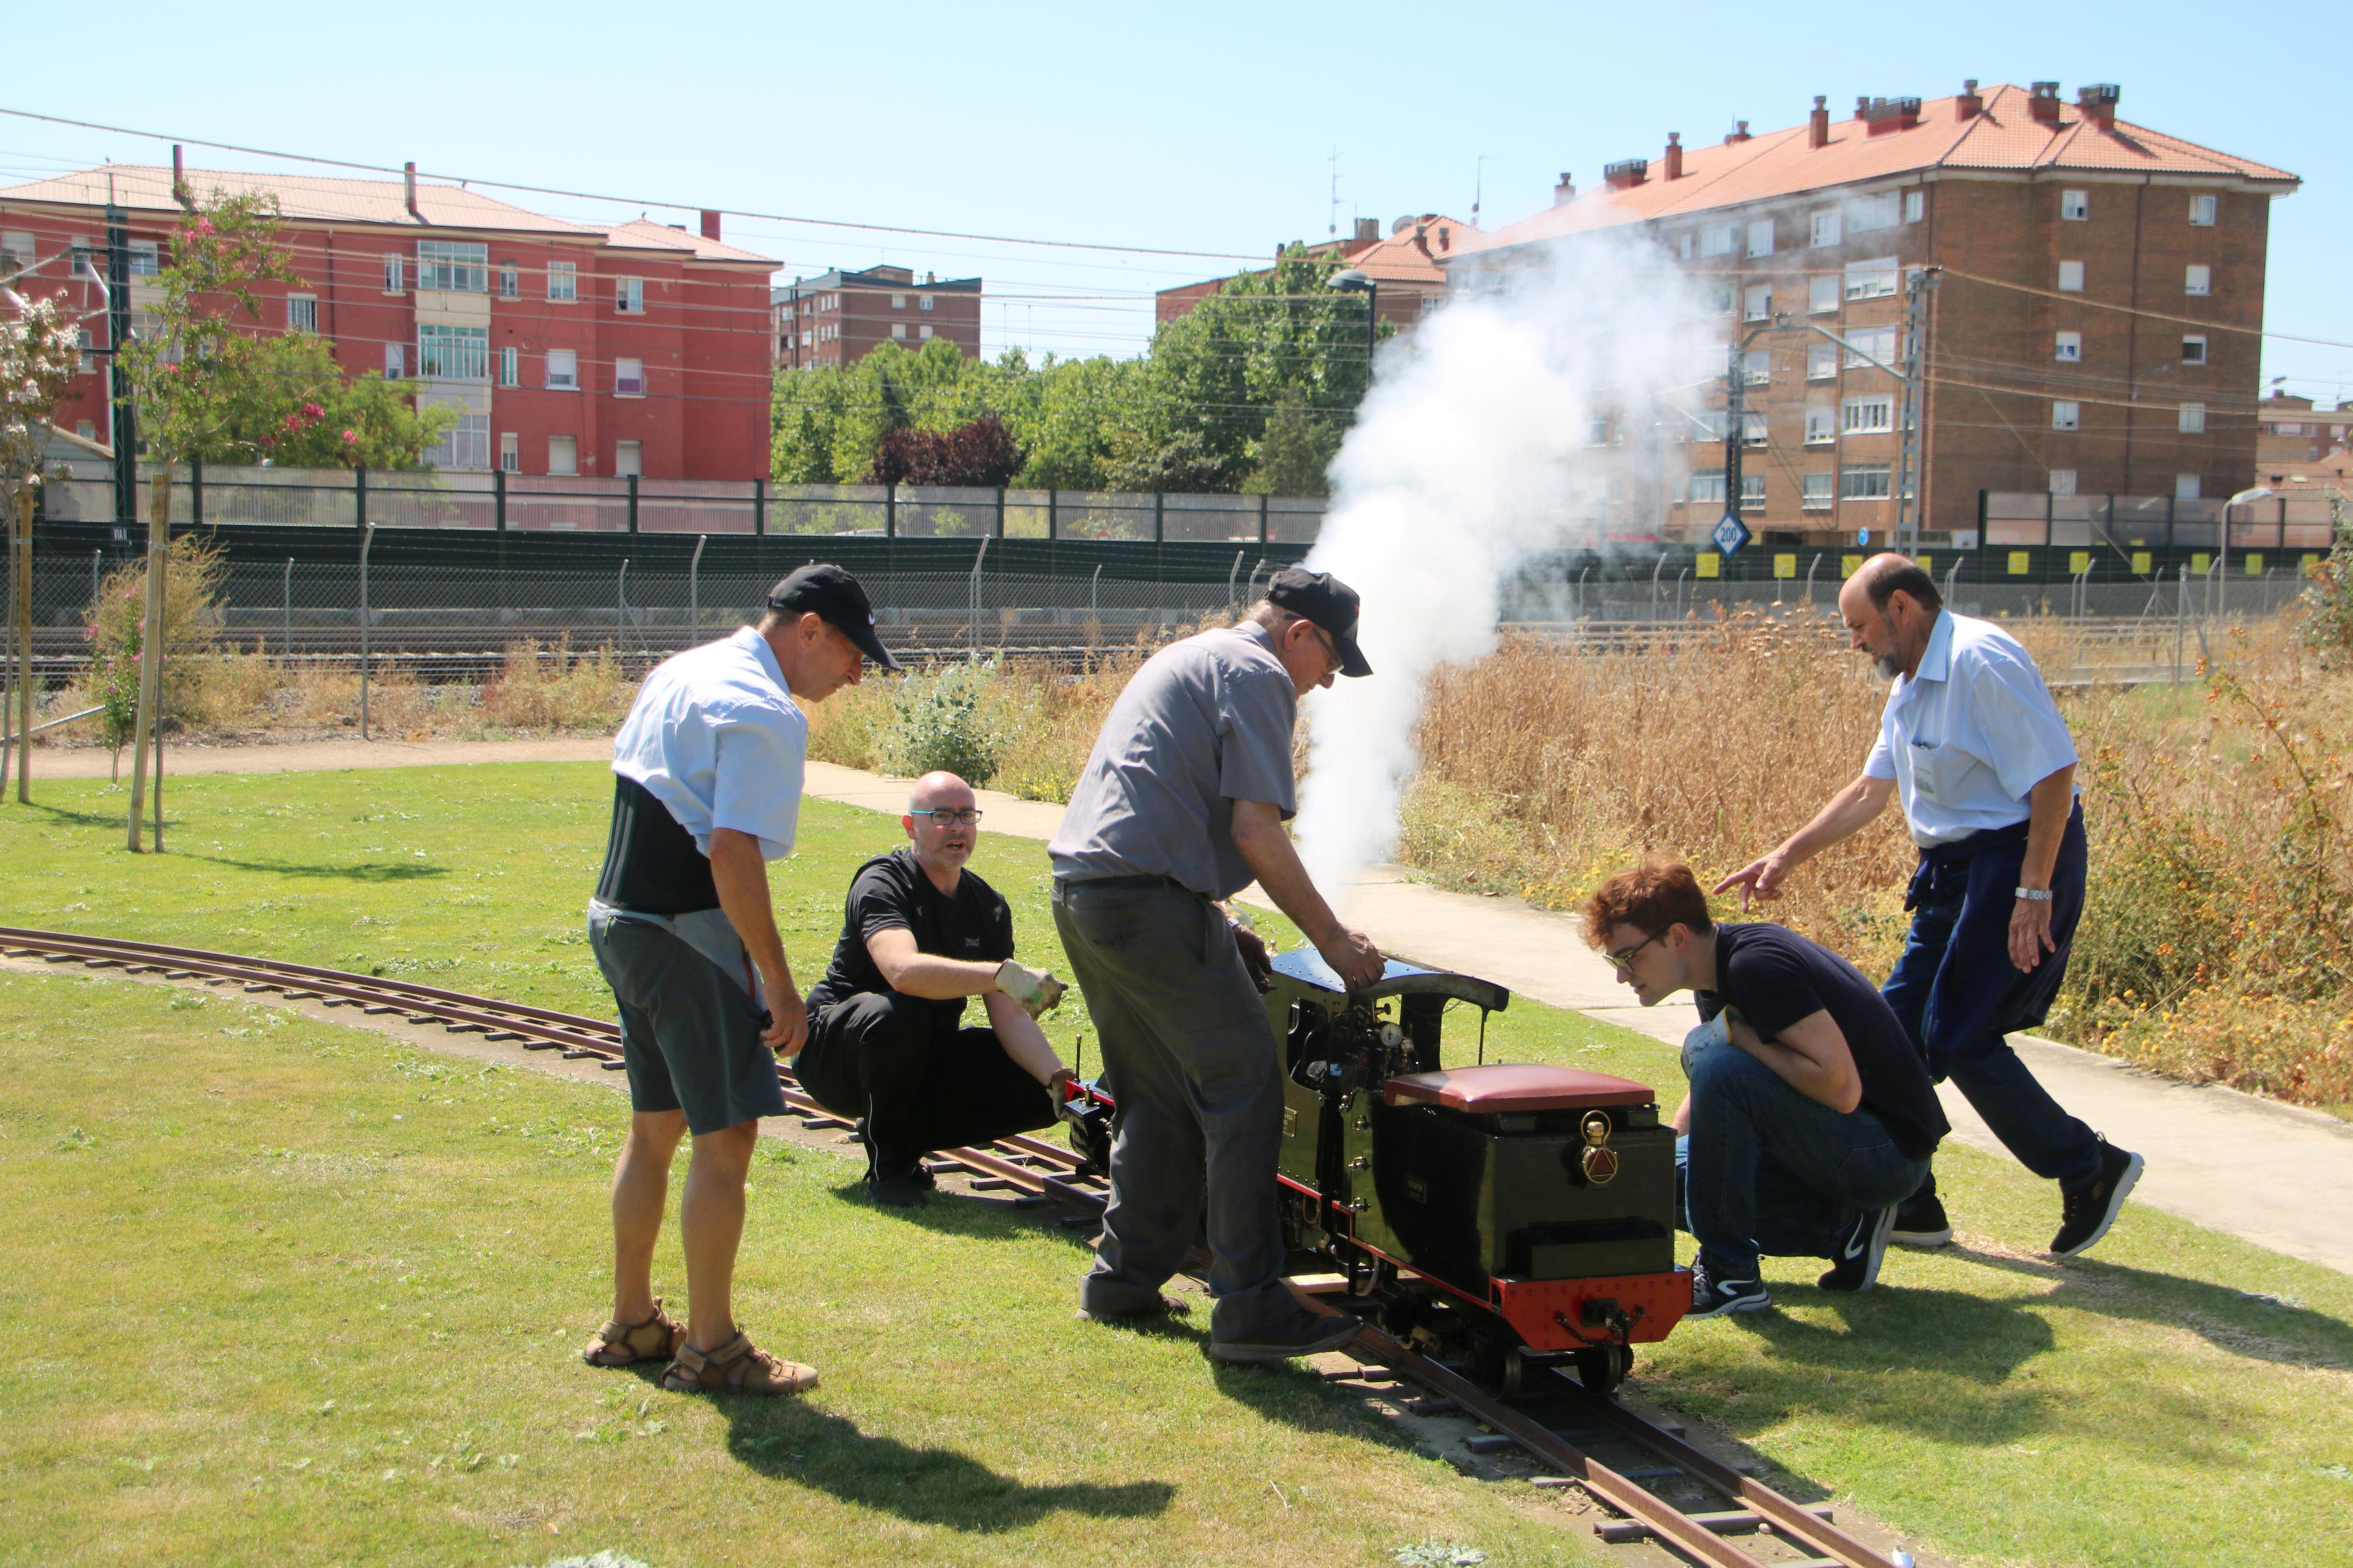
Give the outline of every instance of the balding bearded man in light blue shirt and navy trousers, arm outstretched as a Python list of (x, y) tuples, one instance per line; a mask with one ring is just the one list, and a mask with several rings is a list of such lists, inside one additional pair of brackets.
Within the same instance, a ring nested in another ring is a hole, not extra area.
[[(2085, 837), (2075, 743), (2035, 661), (1991, 621), (1944, 609), (1937, 581), (1875, 555), (1838, 592), (1857, 651), (1894, 682), (1861, 776), (1812, 823), (1715, 891), (1777, 898), (1788, 872), (1871, 823), (1897, 795), (1920, 865), (1911, 936), (1882, 994), (1995, 1138), (2059, 1182), (2073, 1258), (2108, 1234), (2141, 1157), (2113, 1147), (2035, 1081), (2005, 1034), (2049, 1013), (2082, 914)], [(1934, 1171), (1897, 1213), (1906, 1246), (1953, 1239)]]

